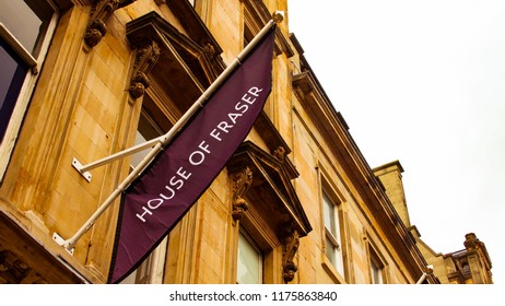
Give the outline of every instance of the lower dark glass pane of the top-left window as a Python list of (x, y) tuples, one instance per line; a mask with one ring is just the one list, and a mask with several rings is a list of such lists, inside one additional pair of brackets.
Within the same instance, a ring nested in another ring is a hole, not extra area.
[(7, 44), (0, 39), (0, 141), (11, 119), (12, 110), (26, 76), (27, 67), (10, 51)]

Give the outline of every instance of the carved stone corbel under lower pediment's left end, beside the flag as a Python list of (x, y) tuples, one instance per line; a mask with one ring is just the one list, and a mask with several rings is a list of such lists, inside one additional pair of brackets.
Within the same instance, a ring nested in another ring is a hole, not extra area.
[(249, 204), (243, 198), (252, 184), (252, 172), (249, 167), (234, 173), (233, 175), (233, 198), (232, 198), (232, 217), (234, 221), (240, 220)]

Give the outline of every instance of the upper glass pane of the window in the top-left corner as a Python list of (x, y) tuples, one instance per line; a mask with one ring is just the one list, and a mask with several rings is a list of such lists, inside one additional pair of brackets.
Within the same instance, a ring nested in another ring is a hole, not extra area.
[(43, 0), (0, 0), (0, 22), (17, 40), (38, 56), (38, 42), (46, 34), (54, 10)]

